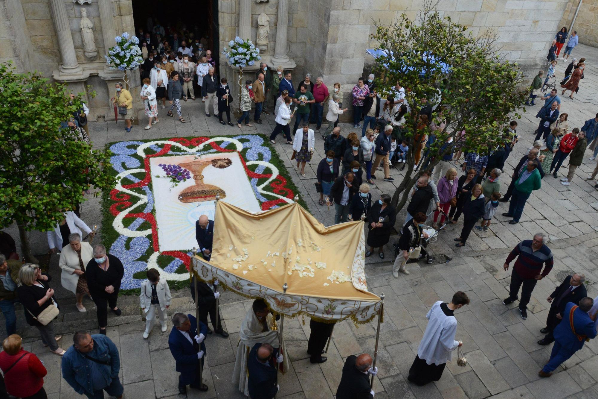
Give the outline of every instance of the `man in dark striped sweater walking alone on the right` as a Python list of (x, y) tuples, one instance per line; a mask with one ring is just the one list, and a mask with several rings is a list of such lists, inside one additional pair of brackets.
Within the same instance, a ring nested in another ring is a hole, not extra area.
[[(553, 268), (553, 253), (545, 244), (546, 236), (538, 233), (533, 240), (523, 240), (509, 253), (503, 265), (509, 270), (509, 263), (515, 258), (515, 266), (511, 273), (511, 286), (509, 286), (509, 297), (502, 301), (505, 305), (517, 300), (517, 293), (521, 289), (521, 300), (519, 301), (519, 312), (521, 318), (527, 319), (527, 304), (532, 297), (533, 288), (538, 280), (544, 279)], [(544, 271), (542, 271), (544, 265)]]

